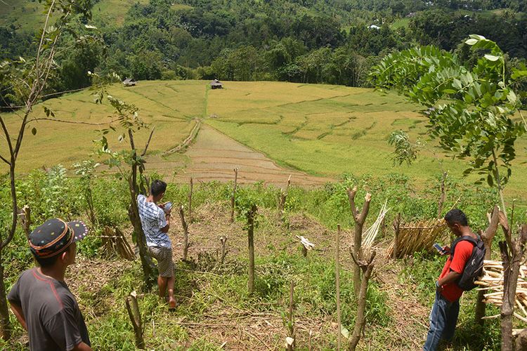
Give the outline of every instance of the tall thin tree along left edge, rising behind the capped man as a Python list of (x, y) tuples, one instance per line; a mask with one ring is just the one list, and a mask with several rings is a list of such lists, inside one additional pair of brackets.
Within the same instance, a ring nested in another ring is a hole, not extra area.
[[(9, 168), (9, 184), (11, 188), (11, 208), (12, 220), (6, 229), (0, 230), (0, 328), (1, 336), (8, 339), (11, 336), (11, 326), (9, 323), (8, 303), (6, 300), (6, 286), (4, 284), (4, 265), (1, 256), (6, 246), (13, 239), (18, 218), (17, 189), (15, 183), (16, 162), (20, 156), (20, 147), (24, 138), (25, 131), (30, 128), (30, 124), (35, 119), (30, 117), (34, 105), (43, 97), (48, 79), (52, 77), (53, 71), (57, 69), (55, 57), (61, 45), (62, 34), (69, 30), (70, 20), (76, 14), (81, 14), (85, 18), (91, 18), (90, 0), (52, 0), (46, 1), (46, 20), (44, 28), (39, 36), (39, 44), (36, 57), (31, 60), (20, 58), (2, 62), (0, 65), (0, 86), (5, 86), (6, 82), (13, 86), (18, 98), (24, 102), (21, 107), (20, 124), (15, 129), (9, 131), (6, 119), (8, 117), (0, 115), (0, 124), (4, 133), (7, 150), (2, 149), (0, 154), (1, 161), (4, 161)], [(54, 24), (51, 25), (52, 15)], [(53, 112), (44, 109), (48, 117)], [(33, 134), (37, 133), (37, 128), (32, 127)], [(4, 153), (4, 152), (7, 152)]]

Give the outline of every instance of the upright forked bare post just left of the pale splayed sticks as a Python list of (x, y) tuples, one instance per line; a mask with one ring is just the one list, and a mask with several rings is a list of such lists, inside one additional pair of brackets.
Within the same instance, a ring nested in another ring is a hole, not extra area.
[[(357, 194), (357, 187), (347, 189), (349, 206), (351, 207), (351, 213), (353, 213), (353, 220), (355, 221), (355, 234), (353, 236), (353, 254), (357, 260), (362, 258), (362, 242), (363, 242), (363, 226), (367, 217), (368, 211), (370, 211), (370, 201), (372, 201), (372, 194), (369, 192), (366, 194), (365, 201), (363, 204), (363, 211), (358, 212), (358, 208), (355, 206), (355, 195)], [(353, 266), (353, 289), (355, 296), (358, 296), (360, 292), (360, 267), (358, 265)]]

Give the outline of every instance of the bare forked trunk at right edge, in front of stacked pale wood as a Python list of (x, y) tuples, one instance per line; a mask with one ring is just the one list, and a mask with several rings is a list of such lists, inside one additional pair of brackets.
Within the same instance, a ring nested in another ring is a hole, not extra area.
[(520, 271), (521, 260), (527, 241), (527, 225), (522, 225), (519, 238), (512, 240), (512, 248), (507, 250), (507, 241), (500, 241), (500, 251), (503, 260), (503, 303), (501, 307), (502, 351), (512, 351), (512, 317), (516, 303), (516, 285)]

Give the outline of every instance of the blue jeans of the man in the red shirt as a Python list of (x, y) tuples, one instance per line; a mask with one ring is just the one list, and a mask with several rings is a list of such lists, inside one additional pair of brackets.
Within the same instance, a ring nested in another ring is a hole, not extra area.
[(451, 303), (440, 292), (436, 291), (436, 300), (430, 312), (430, 329), (423, 351), (437, 349), (439, 340), (452, 340), (454, 337), (457, 314), (460, 313), (460, 300)]

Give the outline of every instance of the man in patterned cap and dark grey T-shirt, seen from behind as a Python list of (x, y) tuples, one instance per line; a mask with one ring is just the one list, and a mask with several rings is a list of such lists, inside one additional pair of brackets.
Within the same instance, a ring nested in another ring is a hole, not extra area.
[(11, 310), (30, 336), (30, 350), (91, 350), (77, 300), (64, 282), (76, 241), (88, 232), (80, 221), (47, 220), (29, 239), (40, 267), (22, 272), (8, 293)]

